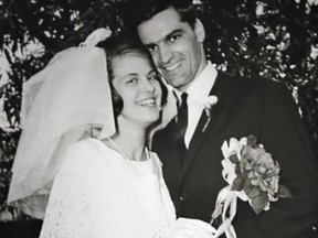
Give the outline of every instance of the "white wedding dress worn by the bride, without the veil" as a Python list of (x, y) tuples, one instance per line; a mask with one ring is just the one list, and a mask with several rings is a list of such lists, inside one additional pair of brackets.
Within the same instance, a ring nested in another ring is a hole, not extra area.
[(86, 139), (64, 158), (40, 237), (167, 237), (174, 221), (156, 153), (147, 161), (129, 161), (103, 142)]

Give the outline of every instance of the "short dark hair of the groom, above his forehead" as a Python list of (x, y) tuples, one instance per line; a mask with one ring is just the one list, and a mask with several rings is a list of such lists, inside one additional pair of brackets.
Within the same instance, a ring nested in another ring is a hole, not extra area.
[(182, 22), (188, 22), (194, 28), (197, 14), (192, 0), (128, 0), (123, 10), (126, 31), (136, 35), (139, 24), (169, 8), (177, 10)]

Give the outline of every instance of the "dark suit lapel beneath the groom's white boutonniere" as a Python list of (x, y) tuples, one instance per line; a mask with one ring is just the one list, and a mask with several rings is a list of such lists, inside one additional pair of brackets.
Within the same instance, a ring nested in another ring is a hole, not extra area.
[(205, 127), (208, 116), (206, 116), (204, 110), (202, 111), (199, 123), (195, 128), (195, 132), (191, 139), (190, 144), (189, 144), (189, 149), (187, 152), (187, 156), (186, 156), (183, 166), (181, 169), (181, 174), (179, 177), (179, 185), (181, 184), (188, 169), (190, 167), (191, 163), (193, 162), (195, 154), (198, 153), (200, 147), (203, 144), (208, 134), (211, 133), (210, 131), (214, 127), (215, 118), (219, 115), (218, 112), (220, 110), (220, 106), (222, 106), (222, 100), (225, 97), (225, 95), (222, 95), (222, 93), (224, 94), (224, 91), (225, 91), (225, 89), (224, 89), (225, 85), (224, 85), (223, 78), (224, 78), (223, 74), (218, 73), (218, 77), (215, 79), (214, 86), (212, 87), (212, 89), (210, 91), (210, 95), (215, 95), (218, 97), (218, 104), (212, 107), (210, 122), (209, 122), (208, 127), (204, 129), (204, 131), (203, 131), (203, 128)]

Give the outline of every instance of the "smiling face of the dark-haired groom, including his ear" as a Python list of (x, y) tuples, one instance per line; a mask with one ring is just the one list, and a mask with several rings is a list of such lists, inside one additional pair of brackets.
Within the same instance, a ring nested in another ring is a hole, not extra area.
[(139, 24), (137, 31), (165, 79), (184, 91), (206, 64), (201, 22), (198, 20), (192, 28), (169, 8)]

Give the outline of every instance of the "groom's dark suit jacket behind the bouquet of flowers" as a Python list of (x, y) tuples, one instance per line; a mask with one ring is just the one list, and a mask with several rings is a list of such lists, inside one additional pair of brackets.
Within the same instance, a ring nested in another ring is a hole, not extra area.
[(219, 73), (211, 95), (218, 104), (204, 132), (203, 112), (187, 152), (183, 166), (174, 151), (176, 123), (153, 137), (152, 150), (163, 163), (166, 183), (180, 217), (210, 221), (222, 177), (221, 145), (234, 137), (257, 137), (280, 164), (280, 184), (292, 198), (279, 198), (271, 209), (255, 215), (248, 203), (239, 202), (234, 220), (242, 238), (304, 237), (314, 221), (318, 204), (316, 159), (296, 104), (285, 86), (264, 78), (234, 78)]

